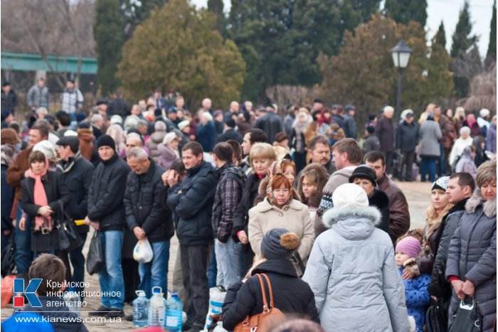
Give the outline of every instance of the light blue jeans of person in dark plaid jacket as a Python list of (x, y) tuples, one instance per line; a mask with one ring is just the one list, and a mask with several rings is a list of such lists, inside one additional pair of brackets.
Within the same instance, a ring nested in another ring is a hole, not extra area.
[(216, 262), (218, 263), (218, 276), (216, 284), (223, 285), (228, 289), (232, 284), (240, 280), (240, 243), (235, 243), (232, 237), (228, 237), (228, 242), (222, 243), (218, 239), (214, 240), (214, 251), (216, 252)]

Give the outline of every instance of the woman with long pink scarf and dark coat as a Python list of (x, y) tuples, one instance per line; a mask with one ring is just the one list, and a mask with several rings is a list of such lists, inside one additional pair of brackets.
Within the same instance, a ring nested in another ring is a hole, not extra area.
[[(63, 259), (66, 280), (70, 280), (68, 253), (60, 251), (58, 225), (55, 222), (60, 203), (67, 205), (70, 201), (68, 187), (60, 173), (48, 171), (48, 159), (43, 152), (32, 151), (28, 161), (28, 177), (21, 182), (21, 208), (32, 220), (31, 251), (35, 252), (35, 256), (48, 252)], [(19, 225), (19, 228), (25, 229), (26, 223)]]

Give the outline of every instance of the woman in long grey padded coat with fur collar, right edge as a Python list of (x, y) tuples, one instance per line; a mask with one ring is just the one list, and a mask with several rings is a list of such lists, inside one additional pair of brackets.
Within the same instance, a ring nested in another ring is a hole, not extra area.
[(473, 296), (482, 316), (482, 331), (490, 332), (497, 314), (496, 160), (477, 168), (476, 182), (477, 189), (465, 204), (465, 213), (448, 250), (446, 278), (453, 289), (450, 325), (460, 300)]

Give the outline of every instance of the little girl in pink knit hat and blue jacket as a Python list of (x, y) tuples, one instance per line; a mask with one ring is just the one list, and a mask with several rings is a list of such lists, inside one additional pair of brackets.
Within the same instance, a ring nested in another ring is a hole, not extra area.
[[(415, 237), (404, 237), (396, 245), (396, 264), (399, 267), (399, 274), (403, 275), (405, 264), (418, 257), (422, 250), (420, 242)], [(420, 274), (413, 279), (403, 279), (405, 285), (406, 308), (408, 316), (415, 318), (417, 329), (423, 331), (422, 327), (425, 322), (425, 308), (428, 306), (430, 296), (427, 287), (430, 283), (429, 274)]]

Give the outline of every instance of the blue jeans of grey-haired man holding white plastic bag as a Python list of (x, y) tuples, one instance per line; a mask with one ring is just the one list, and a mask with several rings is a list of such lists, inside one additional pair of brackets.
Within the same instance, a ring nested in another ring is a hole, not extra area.
[(138, 273), (140, 274), (140, 285), (138, 289), (145, 291), (147, 297), (152, 296), (152, 287), (161, 287), (164, 297), (168, 290), (168, 261), (169, 261), (169, 240), (152, 242), (150, 244), (154, 258), (152, 262), (140, 263)]

